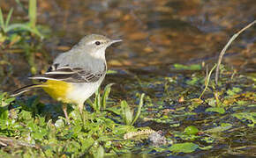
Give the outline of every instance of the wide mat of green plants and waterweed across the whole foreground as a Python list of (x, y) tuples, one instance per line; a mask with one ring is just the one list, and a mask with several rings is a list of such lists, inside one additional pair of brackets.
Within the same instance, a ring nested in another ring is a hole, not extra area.
[[(246, 149), (252, 148), (255, 134), (253, 109), (256, 97), (253, 87), (248, 86), (253, 81), (252, 77), (245, 75), (236, 75), (230, 81), (230, 75), (229, 70), (222, 68), (219, 104), (214, 95), (212, 77), (207, 78), (208, 88), (201, 99), (198, 98), (200, 90), (204, 89), (201, 87), (205, 78), (203, 71), (178, 79), (177, 76), (165, 79), (159, 76), (152, 81), (141, 80), (140, 85), (132, 85), (132, 90), (139, 90), (143, 84), (146, 93), (160, 85), (164, 91), (162, 97), (135, 95), (137, 99), (130, 101), (130, 104), (139, 103), (135, 116), (132, 106), (126, 101), (117, 102), (109, 97), (111, 83), (102, 93), (96, 93), (94, 101), (88, 101), (91, 111), (84, 112), (82, 117), (87, 118), (84, 122), (77, 107), (70, 108), (70, 125), (65, 123), (64, 117), (54, 114), (55, 111), (61, 114), (60, 106), (42, 104), (38, 97), (14, 100), (2, 93), (1, 154), (44, 157), (102, 157), (132, 153), (182, 155), (215, 150), (220, 145), (229, 146), (230, 142), (243, 139), (245, 134), (243, 147), (223, 150), (246, 154)], [(188, 82), (191, 80), (196, 84)], [(164, 132), (159, 138), (166, 141), (156, 146), (151, 141), (157, 141), (152, 134), (158, 130)]]

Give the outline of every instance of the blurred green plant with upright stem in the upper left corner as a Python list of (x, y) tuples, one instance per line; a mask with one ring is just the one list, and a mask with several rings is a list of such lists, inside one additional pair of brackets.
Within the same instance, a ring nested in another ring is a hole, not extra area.
[[(0, 51), (4, 53), (4, 60), (2, 62), (8, 63), (7, 54), (25, 53), (31, 72), (35, 74), (37, 70), (34, 61), (34, 52), (41, 49), (40, 41), (45, 37), (41, 32), (49, 31), (41, 25), (36, 25), (36, 0), (29, 0), (28, 22), (11, 24), (12, 12), (13, 9), (11, 8), (7, 17), (4, 18), (3, 11), (0, 8)], [(41, 32), (38, 30), (41, 30)]]

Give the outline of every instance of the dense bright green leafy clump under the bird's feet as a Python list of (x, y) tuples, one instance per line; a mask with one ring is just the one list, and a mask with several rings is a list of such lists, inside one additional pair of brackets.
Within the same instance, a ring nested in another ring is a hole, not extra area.
[[(107, 86), (104, 94), (108, 89)], [(0, 142), (6, 145), (1, 150), (2, 154), (38, 154), (53, 157), (96, 156), (99, 151), (105, 155), (127, 153), (134, 143), (124, 140), (124, 134), (143, 129), (117, 123), (120, 116), (107, 111), (85, 112), (87, 120), (84, 123), (75, 106), (70, 113), (71, 125), (68, 126), (64, 123), (65, 118), (60, 116), (51, 117), (55, 119), (54, 121), (51, 118), (46, 119), (43, 112), (39, 111), (47, 108), (47, 105), (38, 102), (38, 98), (30, 98), (31, 100), (27, 100), (26, 103), (17, 101), (11, 104), (14, 98), (2, 93), (0, 99)], [(140, 100), (142, 103), (142, 98)], [(7, 108), (9, 104), (15, 107), (11, 111)], [(37, 108), (36, 111), (34, 108)], [(137, 116), (139, 118), (139, 115)], [(126, 145), (128, 147), (124, 147)]]

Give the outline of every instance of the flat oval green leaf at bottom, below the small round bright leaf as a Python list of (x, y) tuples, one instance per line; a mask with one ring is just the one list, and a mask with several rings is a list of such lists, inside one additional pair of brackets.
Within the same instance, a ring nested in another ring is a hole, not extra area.
[(192, 153), (195, 151), (199, 146), (192, 142), (185, 142), (185, 143), (177, 143), (169, 147), (169, 150), (174, 153)]

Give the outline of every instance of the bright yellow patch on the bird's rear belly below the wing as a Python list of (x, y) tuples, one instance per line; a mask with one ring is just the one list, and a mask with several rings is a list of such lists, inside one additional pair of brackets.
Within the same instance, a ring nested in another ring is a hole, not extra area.
[(69, 90), (72, 90), (72, 84), (55, 80), (48, 80), (43, 84), (47, 86), (43, 87), (42, 89), (46, 91), (50, 97), (64, 103), (72, 103), (72, 100), (66, 97)]

